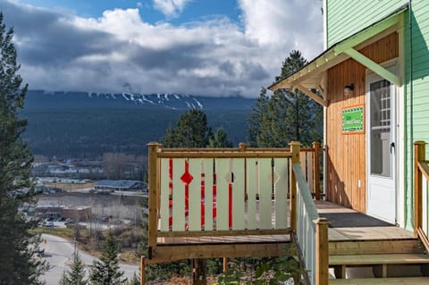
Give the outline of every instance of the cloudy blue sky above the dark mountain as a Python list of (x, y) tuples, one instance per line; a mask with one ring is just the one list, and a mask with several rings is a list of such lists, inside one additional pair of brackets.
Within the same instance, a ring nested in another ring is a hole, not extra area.
[(257, 97), (323, 49), (321, 0), (0, 0), (30, 89)]

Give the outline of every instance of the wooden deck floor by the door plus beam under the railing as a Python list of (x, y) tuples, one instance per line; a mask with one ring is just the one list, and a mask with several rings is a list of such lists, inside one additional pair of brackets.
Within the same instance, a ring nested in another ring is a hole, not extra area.
[[(411, 231), (400, 229), (388, 222), (374, 219), (334, 203), (317, 201), (316, 205), (319, 214), (331, 222), (329, 240), (332, 254), (338, 254), (342, 250), (341, 244), (347, 244), (348, 241), (366, 241), (369, 242), (369, 247), (373, 247), (370, 250), (379, 248), (383, 252), (383, 247), (391, 247), (386, 240), (401, 240), (404, 247), (409, 247), (409, 251), (414, 252), (412, 248), (414, 244), (411, 241), (414, 241), (415, 237)], [(289, 248), (288, 245), (291, 242), (289, 233), (285, 231), (279, 234), (267, 234), (269, 230), (260, 232), (264, 234), (257, 234), (258, 231), (255, 231), (255, 234), (251, 235), (231, 236), (222, 235), (219, 232), (219, 235), (209, 237), (196, 236), (192, 233), (189, 233), (189, 237), (176, 237), (174, 235), (158, 237), (153, 256), (151, 256), (150, 261), (147, 260), (147, 263), (190, 258), (281, 256), (287, 254), (285, 248)], [(407, 240), (410, 241), (409, 246)], [(374, 244), (371, 245), (371, 242)], [(358, 247), (358, 243), (355, 242), (355, 244)], [(365, 249), (356, 248), (355, 250)]]

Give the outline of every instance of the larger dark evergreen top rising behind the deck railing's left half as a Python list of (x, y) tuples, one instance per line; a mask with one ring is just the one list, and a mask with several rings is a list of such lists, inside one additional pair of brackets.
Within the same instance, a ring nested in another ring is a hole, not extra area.
[(169, 127), (163, 138), (164, 147), (206, 147), (212, 130), (208, 127), (203, 111), (191, 109), (177, 122), (177, 128)]

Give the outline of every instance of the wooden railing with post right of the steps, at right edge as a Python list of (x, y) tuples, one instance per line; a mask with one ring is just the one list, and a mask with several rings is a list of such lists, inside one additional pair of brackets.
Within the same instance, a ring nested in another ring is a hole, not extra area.
[(429, 162), (425, 159), (425, 141), (414, 143), (414, 234), (429, 251)]

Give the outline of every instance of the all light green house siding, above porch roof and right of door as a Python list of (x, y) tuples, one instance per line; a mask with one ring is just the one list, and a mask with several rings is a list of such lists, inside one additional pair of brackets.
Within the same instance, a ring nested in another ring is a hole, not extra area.
[[(416, 140), (429, 143), (429, 4), (428, 0), (326, 0), (326, 41), (333, 46), (359, 30), (382, 20), (403, 4), (410, 4), (404, 13), (405, 53), (405, 204), (406, 228), (414, 226), (414, 147)], [(411, 21), (411, 25), (409, 24)], [(411, 29), (410, 29), (411, 26)], [(412, 63), (412, 65), (411, 65)], [(429, 157), (429, 146), (426, 147)]]

